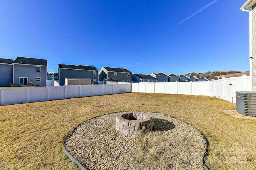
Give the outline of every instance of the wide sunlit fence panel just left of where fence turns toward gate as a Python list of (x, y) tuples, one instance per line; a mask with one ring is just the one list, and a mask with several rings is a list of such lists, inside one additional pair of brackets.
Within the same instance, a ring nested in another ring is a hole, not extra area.
[(192, 95), (208, 96), (208, 91), (207, 82), (192, 82)]

